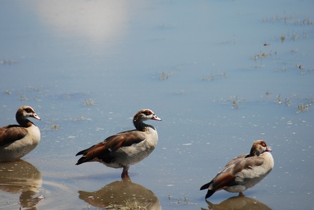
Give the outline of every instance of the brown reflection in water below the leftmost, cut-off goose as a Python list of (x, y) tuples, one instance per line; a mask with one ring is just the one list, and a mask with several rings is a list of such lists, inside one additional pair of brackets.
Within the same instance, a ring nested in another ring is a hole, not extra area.
[[(12, 207), (19, 204), (22, 208), (37, 209), (36, 206), (43, 195), (33, 197), (38, 193), (38, 188), (42, 186), (43, 179), (40, 171), (24, 160), (0, 164), (0, 190), (7, 193), (21, 193), (20, 199), (3, 196), (1, 207)], [(6, 209), (6, 208), (5, 208)], [(18, 209), (18, 208), (15, 208)]]

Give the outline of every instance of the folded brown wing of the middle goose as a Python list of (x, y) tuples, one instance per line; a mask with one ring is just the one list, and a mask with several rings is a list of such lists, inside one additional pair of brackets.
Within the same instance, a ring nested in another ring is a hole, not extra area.
[(76, 154), (76, 156), (83, 155), (76, 165), (88, 162), (94, 158), (105, 160), (110, 153), (117, 151), (121, 147), (130, 147), (145, 140), (145, 136), (141, 131), (128, 130), (126, 132), (118, 133), (107, 137), (103, 142), (95, 144), (89, 149), (85, 149)]

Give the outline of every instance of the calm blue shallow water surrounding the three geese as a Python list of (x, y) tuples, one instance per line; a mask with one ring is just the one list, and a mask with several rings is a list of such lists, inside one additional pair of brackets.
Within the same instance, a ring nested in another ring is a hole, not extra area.
[[(31, 105), (42, 137), (1, 163), (0, 209), (314, 209), (313, 4), (1, 1), (0, 125)], [(75, 166), (142, 108), (163, 121), (130, 181)], [(200, 186), (257, 139), (274, 170), (245, 198), (206, 202)]]

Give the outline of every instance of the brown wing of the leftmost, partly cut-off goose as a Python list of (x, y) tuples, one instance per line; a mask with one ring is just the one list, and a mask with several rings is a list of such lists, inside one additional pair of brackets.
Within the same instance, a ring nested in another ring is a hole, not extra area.
[(28, 131), (24, 127), (18, 125), (9, 125), (0, 128), (0, 147), (22, 139), (27, 133)]

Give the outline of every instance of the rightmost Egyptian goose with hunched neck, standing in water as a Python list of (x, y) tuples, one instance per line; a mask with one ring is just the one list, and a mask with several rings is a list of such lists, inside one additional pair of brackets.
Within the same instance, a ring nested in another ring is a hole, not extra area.
[(211, 197), (218, 190), (230, 193), (239, 193), (244, 196), (244, 190), (255, 186), (271, 172), (274, 167), (274, 158), (271, 149), (262, 140), (253, 143), (251, 152), (230, 160), (227, 165), (209, 183), (200, 190), (208, 189), (205, 198)]

